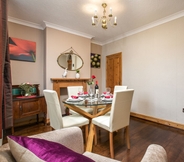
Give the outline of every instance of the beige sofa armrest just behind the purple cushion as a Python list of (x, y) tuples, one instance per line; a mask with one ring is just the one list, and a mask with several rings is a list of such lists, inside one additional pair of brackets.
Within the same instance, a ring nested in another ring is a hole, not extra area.
[(30, 137), (41, 138), (52, 142), (60, 143), (67, 148), (82, 154), (84, 143), (82, 131), (79, 127), (70, 127), (41, 133)]

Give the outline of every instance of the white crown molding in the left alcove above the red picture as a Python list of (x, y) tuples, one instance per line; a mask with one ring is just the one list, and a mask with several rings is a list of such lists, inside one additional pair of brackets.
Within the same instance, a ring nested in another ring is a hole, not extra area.
[(12, 22), (12, 23), (16, 23), (16, 24), (28, 26), (28, 27), (31, 27), (31, 28), (36, 28), (36, 29), (40, 29), (40, 30), (43, 30), (43, 29), (44, 29), (44, 28), (43, 28), (41, 25), (39, 25), (39, 24), (32, 23), (32, 22), (25, 21), (25, 20), (21, 20), (21, 19), (17, 19), (17, 18), (10, 17), (10, 16), (8, 16), (8, 21), (9, 21), (9, 22)]

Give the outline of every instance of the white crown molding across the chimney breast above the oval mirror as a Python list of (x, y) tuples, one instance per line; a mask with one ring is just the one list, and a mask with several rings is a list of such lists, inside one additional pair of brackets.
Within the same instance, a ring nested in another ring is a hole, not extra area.
[(89, 38), (89, 39), (92, 39), (94, 37), (92, 35), (82, 33), (82, 32), (76, 31), (76, 30), (72, 30), (72, 29), (69, 29), (69, 28), (66, 28), (66, 27), (63, 27), (63, 26), (60, 26), (60, 25), (52, 24), (52, 23), (47, 22), (47, 21), (43, 21), (43, 22), (44, 22), (45, 27), (57, 29), (57, 30), (60, 30), (60, 31), (64, 31), (64, 32), (67, 32), (67, 33), (70, 33), (70, 34), (78, 35), (78, 36)]

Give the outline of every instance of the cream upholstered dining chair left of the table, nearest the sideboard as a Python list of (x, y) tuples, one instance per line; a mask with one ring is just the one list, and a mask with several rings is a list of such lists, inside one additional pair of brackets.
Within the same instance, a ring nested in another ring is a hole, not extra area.
[(45, 89), (43, 90), (43, 94), (47, 103), (50, 126), (53, 129), (62, 129), (73, 126), (85, 126), (85, 140), (87, 140), (89, 120), (79, 114), (62, 117), (61, 106), (56, 91)]

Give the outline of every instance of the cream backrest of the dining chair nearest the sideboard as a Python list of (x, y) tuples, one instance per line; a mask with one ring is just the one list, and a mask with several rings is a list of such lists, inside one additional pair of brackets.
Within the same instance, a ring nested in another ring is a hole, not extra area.
[(61, 106), (56, 91), (45, 89), (43, 90), (43, 94), (47, 103), (50, 126), (54, 129), (63, 128)]

